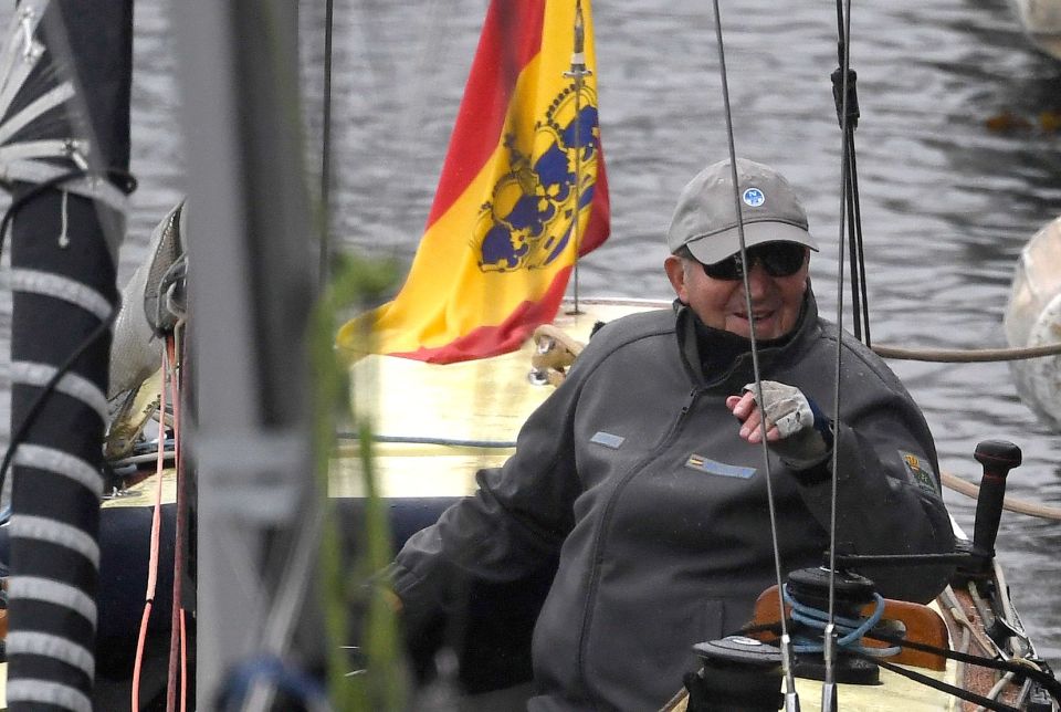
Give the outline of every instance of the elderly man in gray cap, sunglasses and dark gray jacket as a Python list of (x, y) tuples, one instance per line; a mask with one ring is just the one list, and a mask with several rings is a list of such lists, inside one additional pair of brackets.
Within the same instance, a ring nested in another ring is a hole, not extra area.
[[(559, 557), (535, 628), (530, 710), (656, 709), (694, 668), (694, 642), (747, 622), (775, 578), (767, 467), (749, 444), (764, 411), (785, 570), (819, 565), (830, 545), (833, 449), (839, 547), (953, 547), (924, 418), (850, 336), (830, 420), (838, 333), (808, 281), (806, 213), (777, 172), (737, 167), (746, 261), (729, 164), (708, 166), (668, 232), (673, 310), (601, 328), (516, 454), (480, 472), (479, 492), (414, 535), (391, 569), (416, 627), (458, 605), (461, 582), (515, 580)], [(749, 386), (753, 324), (763, 409)], [(931, 569), (870, 575), (885, 596), (913, 600), (945, 585)]]

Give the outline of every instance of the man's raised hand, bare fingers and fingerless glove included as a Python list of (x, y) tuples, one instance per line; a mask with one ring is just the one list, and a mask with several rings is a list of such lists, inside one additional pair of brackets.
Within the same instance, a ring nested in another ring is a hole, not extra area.
[(766, 415), (766, 441), (781, 461), (794, 470), (821, 464), (832, 449), (832, 423), (813, 400), (799, 388), (776, 380), (763, 381), (763, 408), (756, 405), (755, 384), (743, 396), (729, 396), (726, 406), (744, 425), (740, 437), (761, 441), (761, 418)]

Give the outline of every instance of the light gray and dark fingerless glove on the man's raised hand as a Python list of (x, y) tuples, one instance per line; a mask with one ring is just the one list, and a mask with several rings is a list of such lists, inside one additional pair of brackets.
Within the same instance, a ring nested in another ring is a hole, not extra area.
[[(758, 401), (755, 384), (748, 384), (744, 390)], [(767, 427), (777, 427), (780, 438), (769, 447), (785, 464), (799, 471), (824, 462), (832, 450), (832, 422), (803, 391), (776, 380), (764, 380), (763, 402), (758, 405)]]

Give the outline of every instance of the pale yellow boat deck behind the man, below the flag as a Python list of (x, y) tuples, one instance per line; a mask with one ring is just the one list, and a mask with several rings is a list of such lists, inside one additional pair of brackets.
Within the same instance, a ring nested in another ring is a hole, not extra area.
[[(663, 302), (582, 301), (578, 315), (565, 304), (554, 325), (580, 343), (589, 341), (596, 322)], [(553, 391), (529, 383), (534, 344), (494, 358), (424, 364), (407, 358), (370, 356), (350, 370), (351, 401), (357, 413), (371, 418), (382, 439), (417, 439), (417, 443), (380, 442), (376, 447), (377, 482), (384, 496), (455, 496), (470, 494), (475, 471), (501, 464), (512, 449), (429, 444), (423, 441), (514, 442), (527, 416)], [(353, 444), (333, 463), (332, 496), (359, 496), (361, 467)]]

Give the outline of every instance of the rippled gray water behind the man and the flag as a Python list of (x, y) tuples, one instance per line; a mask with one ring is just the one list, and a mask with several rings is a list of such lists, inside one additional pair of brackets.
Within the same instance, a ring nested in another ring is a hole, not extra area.
[[(411, 256), (485, 4), (337, 2), (337, 242)], [(775, 165), (803, 195), (823, 244), (812, 264), (816, 291), (822, 312), (832, 315), (840, 213), (840, 137), (829, 83), (836, 8), (721, 4), (737, 151)], [(862, 109), (855, 142), (874, 342), (1002, 346), (1015, 258), (1061, 213), (1061, 133), (1038, 125), (1041, 112), (1061, 111), (1061, 63), (1030, 49), (1005, 0), (858, 4), (868, 6), (852, 18), (852, 66)], [(323, 6), (307, 8), (302, 20), (311, 139), (321, 134)], [(584, 294), (666, 297), (661, 235), (674, 197), (705, 163), (726, 155), (711, 3), (600, 0), (595, 10), (613, 219), (612, 237), (582, 263), (580, 285)], [(160, 0), (136, 10), (133, 169), (140, 189), (123, 279), (186, 182), (174, 75), (179, 48), (169, 35), (169, 11)], [(1029, 126), (989, 129), (987, 119), (1004, 113)], [(311, 165), (318, 155), (312, 145)], [(6, 339), (7, 294), (2, 308)], [(1058, 433), (1017, 400), (1006, 365), (893, 367), (925, 409), (945, 470), (977, 478), (976, 442), (1007, 438), (1025, 452), (1011, 492), (1061, 506)], [(971, 530), (971, 503), (949, 492), (947, 501)], [(1009, 514), (998, 548), (1040, 653), (1058, 667), (1061, 524)]]

